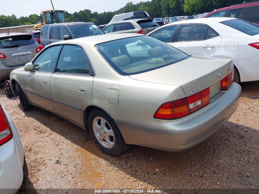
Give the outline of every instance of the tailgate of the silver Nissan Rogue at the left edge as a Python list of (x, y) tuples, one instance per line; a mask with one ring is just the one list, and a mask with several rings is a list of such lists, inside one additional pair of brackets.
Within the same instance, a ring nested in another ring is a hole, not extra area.
[(0, 53), (6, 57), (0, 60), (6, 67), (21, 66), (35, 57), (38, 46), (30, 34), (1, 37)]

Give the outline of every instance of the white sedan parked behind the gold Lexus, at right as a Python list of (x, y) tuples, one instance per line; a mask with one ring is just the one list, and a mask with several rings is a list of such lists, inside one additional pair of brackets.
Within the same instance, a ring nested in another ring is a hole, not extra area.
[(259, 25), (227, 17), (164, 25), (147, 34), (190, 55), (233, 59), (234, 81), (259, 80)]

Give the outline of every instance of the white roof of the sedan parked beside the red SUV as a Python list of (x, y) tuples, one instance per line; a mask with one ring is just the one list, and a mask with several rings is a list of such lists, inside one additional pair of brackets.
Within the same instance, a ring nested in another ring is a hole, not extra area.
[(182, 21), (176, 21), (170, 24), (163, 25), (164, 26), (170, 26), (170, 25), (177, 25), (177, 24), (207, 24), (208, 22), (222, 22), (226, 20), (235, 20), (236, 18), (231, 17), (208, 17), (208, 18), (198, 18), (195, 20), (182, 20)]

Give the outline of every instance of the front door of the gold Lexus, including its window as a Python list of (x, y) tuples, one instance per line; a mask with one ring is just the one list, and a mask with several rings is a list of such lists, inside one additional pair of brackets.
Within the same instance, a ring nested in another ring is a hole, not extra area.
[(24, 73), (26, 94), (32, 103), (56, 112), (50, 94), (50, 80), (54, 72), (62, 46), (52, 46), (44, 50), (32, 62), (34, 69)]

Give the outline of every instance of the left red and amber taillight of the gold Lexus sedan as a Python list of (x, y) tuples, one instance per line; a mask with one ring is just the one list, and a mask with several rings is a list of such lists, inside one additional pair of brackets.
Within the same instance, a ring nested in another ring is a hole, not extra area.
[(210, 88), (187, 98), (166, 102), (154, 114), (156, 119), (174, 120), (187, 116), (210, 103)]

